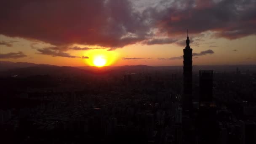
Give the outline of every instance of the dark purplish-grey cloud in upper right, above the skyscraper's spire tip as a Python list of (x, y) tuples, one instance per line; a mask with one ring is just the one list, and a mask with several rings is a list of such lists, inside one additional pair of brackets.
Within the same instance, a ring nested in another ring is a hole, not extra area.
[[(168, 0), (165, 0), (168, 2)], [(215, 32), (216, 37), (235, 39), (256, 34), (255, 0), (174, 0), (163, 11), (149, 10), (160, 32), (180, 35)]]

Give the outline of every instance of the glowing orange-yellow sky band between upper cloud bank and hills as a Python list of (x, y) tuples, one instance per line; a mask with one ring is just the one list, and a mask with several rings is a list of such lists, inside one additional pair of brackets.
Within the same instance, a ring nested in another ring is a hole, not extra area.
[[(1, 61), (13, 61), (13, 62), (31, 62), (36, 64), (52, 64), (59, 66), (87, 66), (93, 65), (93, 57), (103, 55), (106, 57), (107, 65), (121, 66), (121, 65), (150, 65), (150, 66), (171, 66), (182, 65), (183, 59), (168, 60), (171, 57), (178, 57), (183, 55), (184, 46), (176, 44), (164, 44), (164, 45), (143, 45), (133, 44), (127, 45), (124, 48), (117, 48), (114, 51), (107, 51), (107, 49), (96, 49), (88, 51), (68, 51), (74, 56), (88, 56), (89, 59), (82, 58), (66, 58), (59, 56), (50, 56), (37, 54), (36, 49), (31, 48), (32, 43), (37, 43), (35, 46), (38, 48), (46, 47), (50, 44), (46, 44), (40, 41), (30, 41), (22, 38), (11, 38), (1, 35), (1, 40), (16, 41), (12, 47), (1, 45), (0, 53), (11, 53), (13, 51), (23, 51), (27, 56), (17, 59), (1, 59)], [(216, 65), (216, 64), (256, 64), (256, 36), (251, 35), (236, 40), (227, 40), (224, 38), (209, 39), (194, 46), (193, 53), (200, 53), (211, 49), (213, 54), (206, 54), (203, 56), (194, 56), (194, 65)], [(91, 46), (93, 47), (93, 46)], [(94, 46), (96, 47), (96, 46)], [(233, 51), (236, 50), (236, 51)], [(197, 57), (197, 58), (195, 58)], [(91, 59), (90, 59), (91, 58)], [(142, 58), (142, 59), (123, 59), (123, 58)], [(166, 60), (160, 60), (158, 58), (165, 58)]]

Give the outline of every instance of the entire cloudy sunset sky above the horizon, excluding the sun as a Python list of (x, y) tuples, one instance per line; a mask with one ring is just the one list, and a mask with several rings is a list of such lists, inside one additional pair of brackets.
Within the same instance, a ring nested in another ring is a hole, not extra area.
[(5, 0), (0, 61), (59, 66), (256, 64), (256, 0)]

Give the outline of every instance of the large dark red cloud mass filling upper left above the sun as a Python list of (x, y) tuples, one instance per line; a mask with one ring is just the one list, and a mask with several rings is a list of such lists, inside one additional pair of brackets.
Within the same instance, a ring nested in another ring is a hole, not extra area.
[(58, 47), (133, 44), (148, 35), (147, 20), (129, 0), (8, 0), (0, 5), (1, 34)]

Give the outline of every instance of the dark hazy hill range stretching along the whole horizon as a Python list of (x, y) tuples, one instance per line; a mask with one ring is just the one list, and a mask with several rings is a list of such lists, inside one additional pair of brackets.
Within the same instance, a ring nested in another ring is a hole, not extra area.
[[(210, 66), (198, 66), (193, 65), (193, 72), (198, 70), (211, 69), (215, 72), (235, 72), (236, 68), (239, 68), (241, 72), (250, 70), (256, 72), (256, 65), (210, 65)], [(157, 72), (157, 71), (168, 71), (168, 72), (183, 72), (182, 66), (159, 66), (152, 67), (147, 65), (133, 65), (133, 66), (107, 66), (107, 67), (60, 67), (48, 64), (33, 64), (25, 62), (9, 62), (0, 61), (0, 76), (1, 77), (29, 77), (33, 75), (51, 75), (57, 77), (72, 77), (72, 76), (92, 76), (97, 77), (104, 75), (117, 75), (128, 73), (140, 73), (140, 72)], [(98, 75), (100, 74), (100, 75)]]

